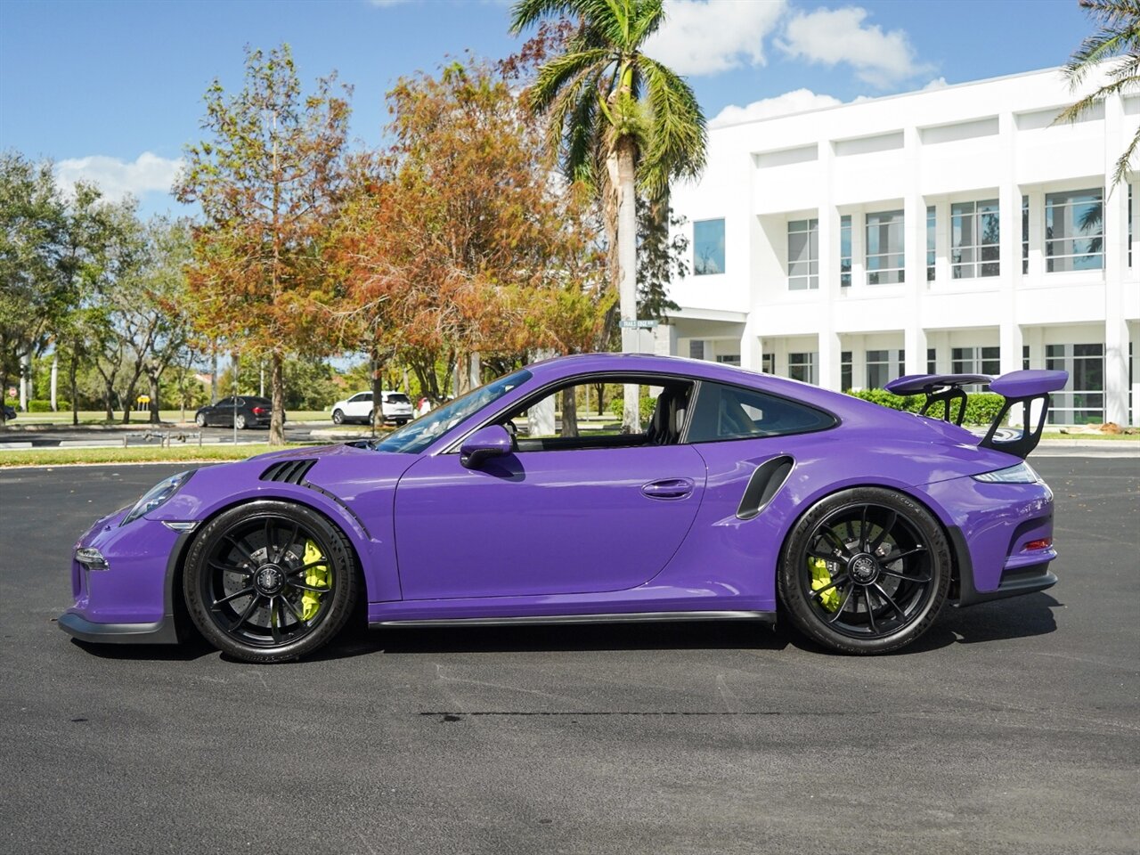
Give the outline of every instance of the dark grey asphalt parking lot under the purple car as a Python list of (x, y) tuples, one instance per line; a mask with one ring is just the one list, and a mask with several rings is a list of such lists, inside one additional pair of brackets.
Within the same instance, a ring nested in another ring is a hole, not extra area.
[(0, 471), (2, 849), (1137, 853), (1140, 459), (1033, 462), (1060, 584), (899, 654), (390, 629), (271, 667), (55, 626), (75, 536), (177, 467)]

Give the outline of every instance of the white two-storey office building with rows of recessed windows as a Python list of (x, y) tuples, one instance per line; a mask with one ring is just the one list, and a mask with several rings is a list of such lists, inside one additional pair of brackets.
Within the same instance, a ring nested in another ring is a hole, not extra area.
[(1140, 97), (1053, 125), (1073, 100), (1053, 68), (711, 130), (658, 351), (837, 390), (1066, 368), (1051, 421), (1140, 424)]

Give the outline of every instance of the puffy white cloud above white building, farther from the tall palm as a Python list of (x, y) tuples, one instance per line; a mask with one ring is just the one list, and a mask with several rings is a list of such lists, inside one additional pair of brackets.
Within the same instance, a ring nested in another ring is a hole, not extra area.
[(846, 63), (860, 80), (880, 89), (931, 71), (915, 58), (905, 31), (883, 32), (878, 24), (864, 24), (868, 10), (857, 6), (796, 13), (776, 44), (809, 63)]

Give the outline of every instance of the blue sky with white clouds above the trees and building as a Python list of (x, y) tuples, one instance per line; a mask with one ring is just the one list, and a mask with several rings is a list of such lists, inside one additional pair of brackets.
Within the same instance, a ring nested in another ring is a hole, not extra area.
[[(706, 115), (736, 121), (1062, 64), (1091, 30), (1076, 0), (666, 0), (648, 52), (686, 74)], [(496, 0), (0, 0), (0, 149), (56, 161), (145, 212), (202, 96), (242, 83), (243, 48), (288, 42), (307, 82), (335, 70), (355, 87), (352, 133), (382, 140), (384, 92), (465, 49), (518, 46)], [(751, 105), (751, 106), (749, 106)]]

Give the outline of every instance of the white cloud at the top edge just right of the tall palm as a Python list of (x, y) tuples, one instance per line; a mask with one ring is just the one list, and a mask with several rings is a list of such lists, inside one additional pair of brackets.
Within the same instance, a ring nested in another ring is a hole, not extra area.
[(719, 74), (764, 65), (764, 39), (785, 0), (666, 0), (665, 23), (645, 54), (678, 74)]

